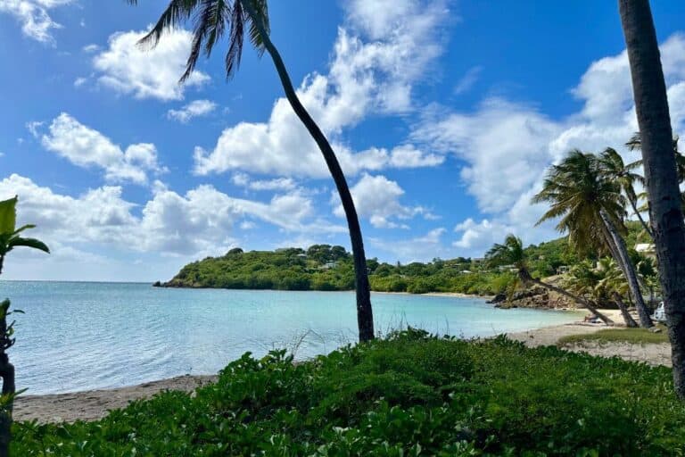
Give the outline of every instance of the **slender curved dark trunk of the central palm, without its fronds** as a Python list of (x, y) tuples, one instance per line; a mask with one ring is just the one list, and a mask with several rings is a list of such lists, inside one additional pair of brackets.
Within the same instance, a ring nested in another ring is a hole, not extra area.
[(285, 69), (285, 64), (281, 55), (278, 53), (276, 46), (271, 43), (267, 31), (261, 23), (260, 17), (255, 13), (252, 7), (251, 0), (243, 2), (243, 7), (250, 15), (252, 22), (260, 32), (260, 37), (266, 47), (268, 54), (276, 65), (278, 77), (281, 79), (281, 84), (285, 90), (285, 96), (293, 107), (293, 111), (300, 118), (302, 124), (309, 130), (309, 135), (314, 138), (318, 148), (321, 150), (328, 170), (335, 181), (335, 187), (338, 189), (340, 199), (342, 201), (342, 209), (345, 211), (347, 217), (347, 225), (350, 229), (350, 241), (352, 245), (352, 256), (354, 258), (354, 283), (357, 293), (357, 324), (359, 327), (359, 341), (368, 341), (374, 339), (374, 314), (371, 308), (371, 291), (368, 283), (367, 273), (367, 259), (364, 253), (364, 242), (361, 237), (361, 228), (359, 227), (359, 217), (357, 210), (354, 207), (354, 201), (350, 193), (350, 187), (347, 185), (345, 175), (342, 173), (342, 168), (338, 159), (335, 157), (333, 148), (328, 143), (326, 136), (318, 128), (317, 123), (311, 118), (309, 112), (301, 104), (300, 99), (295, 93), (293, 82)]

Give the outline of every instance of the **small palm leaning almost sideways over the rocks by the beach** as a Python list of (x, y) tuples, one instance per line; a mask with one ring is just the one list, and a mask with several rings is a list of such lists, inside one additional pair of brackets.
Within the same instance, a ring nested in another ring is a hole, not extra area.
[(601, 312), (598, 312), (597, 308), (582, 296), (571, 294), (561, 287), (556, 287), (549, 283), (543, 282), (540, 279), (532, 278), (531, 272), (528, 268), (528, 256), (524, 251), (524, 244), (521, 241), (521, 238), (515, 237), (514, 235), (508, 235), (505, 238), (503, 245), (495, 244), (491, 247), (490, 251), (485, 254), (485, 259), (491, 266), (514, 265), (516, 270), (518, 270), (518, 278), (524, 284), (524, 286), (535, 284), (537, 286), (554, 291), (559, 295), (564, 295), (565, 297), (573, 300), (575, 303), (578, 303), (580, 306), (582, 306), (582, 308), (587, 308), (599, 319), (607, 323), (607, 325), (614, 324), (613, 320), (610, 320), (607, 318), (607, 316)]

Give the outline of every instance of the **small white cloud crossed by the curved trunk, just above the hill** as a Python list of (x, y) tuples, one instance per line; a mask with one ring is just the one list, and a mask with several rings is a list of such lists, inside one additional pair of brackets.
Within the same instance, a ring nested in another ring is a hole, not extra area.
[[(367, 218), (376, 228), (408, 228), (397, 220), (409, 220), (417, 214), (426, 212), (420, 206), (409, 207), (400, 204), (404, 189), (383, 175), (371, 176), (365, 173), (357, 184), (351, 187), (350, 192), (359, 217)], [(336, 216), (345, 217), (337, 191), (331, 194), (331, 204), (334, 204)]]

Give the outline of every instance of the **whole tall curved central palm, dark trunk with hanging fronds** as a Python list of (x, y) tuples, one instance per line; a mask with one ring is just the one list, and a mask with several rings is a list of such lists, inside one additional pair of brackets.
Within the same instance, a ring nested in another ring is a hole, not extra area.
[[(137, 4), (137, 0), (127, 0), (129, 4)], [(357, 210), (352, 200), (350, 187), (347, 184), (337, 157), (311, 118), (309, 112), (301, 104), (295, 93), (293, 82), (285, 69), (285, 63), (278, 53), (276, 46), (269, 37), (267, 0), (171, 0), (167, 9), (162, 12), (159, 21), (143, 39), (141, 44), (156, 46), (163, 32), (173, 29), (187, 21), (192, 15), (195, 17), (194, 39), (190, 55), (186, 63), (186, 72), (181, 81), (186, 80), (194, 71), (195, 64), (202, 52), (210, 55), (214, 45), (227, 34), (228, 50), (226, 54), (226, 73), (230, 78), (240, 66), (243, 54), (243, 36), (248, 34), (252, 46), (261, 55), (264, 51), (271, 56), (278, 77), (285, 90), (285, 96), (293, 107), (302, 124), (309, 131), (309, 135), (317, 143), (334, 179), (335, 187), (342, 201), (342, 208), (347, 217), (350, 230), (352, 255), (354, 259), (355, 288), (357, 291), (357, 323), (359, 326), (359, 341), (374, 338), (374, 316), (371, 308), (371, 294), (367, 276), (367, 261), (364, 253), (364, 242), (359, 227)]]

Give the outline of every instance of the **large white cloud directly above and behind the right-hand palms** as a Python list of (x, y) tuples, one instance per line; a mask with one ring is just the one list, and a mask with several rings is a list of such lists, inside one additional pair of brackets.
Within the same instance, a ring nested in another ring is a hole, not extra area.
[[(661, 46), (673, 129), (685, 122), (685, 36), (675, 34)], [(628, 153), (623, 144), (638, 129), (625, 51), (590, 64), (572, 94), (582, 109), (552, 120), (527, 104), (487, 99), (475, 112), (432, 107), (412, 139), (464, 161), (461, 178), (475, 196), (483, 219), (458, 224), (454, 246), (481, 255), (512, 232), (525, 243), (554, 237), (552, 224), (533, 225), (544, 212), (531, 197), (545, 171), (572, 148), (598, 152), (607, 146)]]

